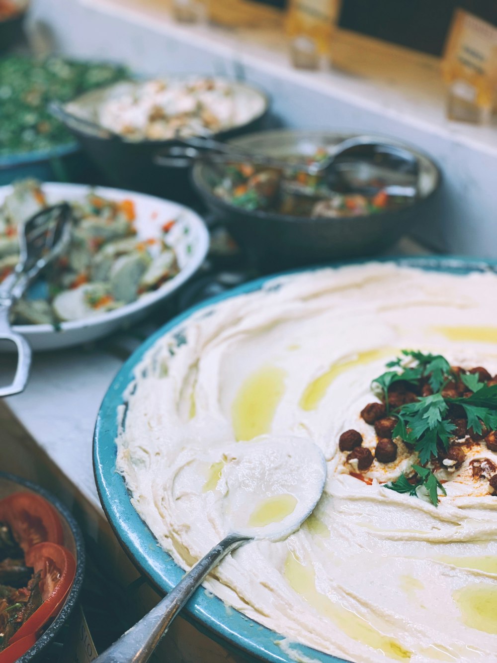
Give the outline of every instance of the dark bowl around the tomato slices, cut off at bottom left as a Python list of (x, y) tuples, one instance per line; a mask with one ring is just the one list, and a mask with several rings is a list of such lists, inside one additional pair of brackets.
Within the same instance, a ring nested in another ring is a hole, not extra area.
[(78, 523), (74, 520), (67, 507), (64, 507), (56, 497), (35, 483), (31, 483), (30, 481), (26, 481), (25, 479), (21, 479), (20, 477), (16, 477), (7, 472), (0, 472), (0, 499), (3, 499), (12, 493), (18, 493), (19, 491), (27, 491), (28, 493), (41, 495), (46, 501), (50, 502), (50, 504), (55, 507), (60, 516), (60, 522), (62, 522), (64, 546), (72, 552), (74, 559), (76, 560), (76, 575), (74, 576), (71, 591), (66, 598), (62, 610), (58, 613), (57, 617), (42, 636), (40, 636), (34, 645), (18, 660), (18, 663), (28, 663), (28, 661), (34, 661), (40, 658), (40, 655), (46, 649), (46, 646), (52, 642), (60, 628), (66, 623), (66, 621), (68, 621), (74, 606), (78, 601), (83, 584), (83, 575), (85, 572), (85, 549), (83, 535)]

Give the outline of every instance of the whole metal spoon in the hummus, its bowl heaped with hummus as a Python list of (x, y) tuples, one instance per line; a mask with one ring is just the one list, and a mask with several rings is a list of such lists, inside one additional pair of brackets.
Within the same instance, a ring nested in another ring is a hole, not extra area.
[(219, 490), (224, 520), (233, 530), (97, 663), (144, 663), (206, 575), (233, 550), (250, 541), (279, 541), (296, 532), (325, 488), (323, 452), (305, 438), (261, 436), (237, 442), (223, 453)]

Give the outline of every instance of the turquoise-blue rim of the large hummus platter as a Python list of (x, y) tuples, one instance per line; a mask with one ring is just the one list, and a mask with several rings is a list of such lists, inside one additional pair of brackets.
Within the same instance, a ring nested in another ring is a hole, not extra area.
[[(386, 258), (381, 259), (381, 261), (394, 261), (398, 265), (406, 267), (454, 274), (467, 274), (470, 271), (497, 271), (497, 263), (462, 257)], [(363, 261), (334, 263), (331, 267), (341, 267), (342, 265), (361, 262)], [(135, 367), (140, 363), (146, 351), (164, 333), (183, 324), (197, 310), (221, 302), (229, 297), (259, 290), (271, 278), (275, 278), (275, 276), (272, 275), (243, 284), (239, 288), (194, 306), (168, 322), (131, 355), (115, 377), (101, 404), (93, 440), (93, 465), (101, 503), (121, 544), (138, 568), (152, 581), (160, 593), (170, 591), (183, 577), (184, 571), (166, 552), (159, 548), (156, 538), (131, 505), (123, 477), (115, 471), (117, 408), (125, 402), (123, 393), (129, 383), (133, 381)], [(294, 663), (294, 658), (290, 658), (277, 644), (278, 640), (284, 639), (284, 636), (262, 627), (233, 608), (227, 607), (221, 599), (207, 593), (203, 587), (197, 589), (186, 605), (183, 615), (193, 621), (201, 631), (208, 633), (211, 638), (221, 642), (228, 648), (244, 652), (247, 660)], [(300, 654), (304, 659), (307, 657), (321, 663), (343, 661), (343, 659), (317, 652), (300, 644), (292, 644), (291, 647), (294, 652)]]

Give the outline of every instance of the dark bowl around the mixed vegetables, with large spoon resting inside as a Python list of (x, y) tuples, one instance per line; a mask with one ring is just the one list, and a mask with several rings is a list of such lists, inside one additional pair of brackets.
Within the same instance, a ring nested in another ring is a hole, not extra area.
[[(231, 143), (244, 150), (271, 156), (311, 156), (316, 149), (334, 145), (357, 133), (292, 131), (279, 129), (252, 134)], [(333, 258), (378, 253), (408, 233), (421, 218), (439, 187), (440, 174), (433, 161), (416, 149), (384, 136), (387, 145), (407, 149), (418, 164), (419, 197), (412, 204), (371, 215), (328, 218), (298, 217), (268, 211), (249, 211), (229, 204), (213, 193), (219, 174), (206, 162), (193, 166), (193, 186), (215, 217), (226, 223), (237, 241), (258, 261), (292, 267)]]

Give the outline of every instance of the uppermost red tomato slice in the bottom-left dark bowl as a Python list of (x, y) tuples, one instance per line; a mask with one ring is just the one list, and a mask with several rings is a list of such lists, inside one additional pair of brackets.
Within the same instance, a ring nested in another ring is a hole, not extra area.
[(24, 552), (42, 541), (64, 542), (58, 512), (34, 493), (13, 493), (1, 500), (0, 521), (7, 522)]

